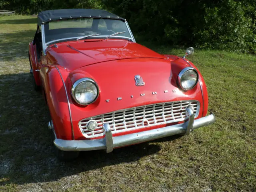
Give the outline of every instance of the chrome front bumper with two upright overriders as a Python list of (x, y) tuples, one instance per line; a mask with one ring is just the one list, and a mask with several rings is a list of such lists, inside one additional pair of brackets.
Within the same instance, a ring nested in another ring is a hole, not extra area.
[(62, 140), (55, 139), (55, 146), (63, 151), (90, 151), (90, 150), (106, 150), (107, 153), (112, 152), (114, 148), (128, 146), (132, 144), (138, 144), (150, 140), (155, 140), (167, 136), (176, 134), (188, 135), (194, 129), (202, 126), (213, 124), (216, 117), (213, 113), (208, 116), (194, 119), (195, 115), (191, 108), (186, 108), (186, 118), (183, 124), (171, 125), (163, 128), (157, 128), (153, 130), (126, 134), (122, 136), (112, 136), (110, 125), (108, 123), (103, 124), (105, 137), (102, 139), (93, 140)]

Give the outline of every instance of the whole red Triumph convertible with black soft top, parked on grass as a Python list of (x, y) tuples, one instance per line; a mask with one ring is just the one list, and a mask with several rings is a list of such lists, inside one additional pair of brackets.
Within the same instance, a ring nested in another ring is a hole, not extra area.
[(135, 42), (124, 18), (104, 10), (38, 14), (29, 60), (50, 110), (56, 155), (120, 148), (215, 122), (202, 75), (184, 57)]

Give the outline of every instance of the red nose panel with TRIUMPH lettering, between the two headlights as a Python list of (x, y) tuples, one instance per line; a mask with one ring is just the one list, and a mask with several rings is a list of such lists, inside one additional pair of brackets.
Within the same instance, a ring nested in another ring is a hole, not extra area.
[[(184, 68), (186, 65), (180, 66)], [(142, 78), (143, 86), (136, 85), (136, 75)], [(112, 60), (84, 66), (69, 73), (68, 89), (84, 77), (95, 80), (100, 94), (94, 103), (86, 107), (71, 107), (76, 112), (75, 116), (82, 114), (83, 118), (146, 104), (195, 100), (201, 95), (199, 85), (182, 92), (176, 84), (177, 73), (172, 69), (172, 63), (159, 58)]]

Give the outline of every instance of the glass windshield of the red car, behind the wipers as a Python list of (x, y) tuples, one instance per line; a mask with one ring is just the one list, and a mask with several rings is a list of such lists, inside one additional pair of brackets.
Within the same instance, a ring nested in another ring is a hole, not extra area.
[[(125, 31), (125, 32), (124, 32)], [(124, 32), (109, 38), (130, 38), (126, 23), (122, 20), (105, 18), (77, 18), (57, 20), (44, 25), (46, 44), (61, 39), (81, 38), (92, 34), (100, 34), (88, 38), (106, 37), (116, 32)]]

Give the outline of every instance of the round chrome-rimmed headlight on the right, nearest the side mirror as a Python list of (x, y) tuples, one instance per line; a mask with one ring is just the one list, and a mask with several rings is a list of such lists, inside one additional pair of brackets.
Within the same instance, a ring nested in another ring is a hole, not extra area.
[(178, 85), (183, 90), (190, 90), (198, 82), (198, 73), (192, 67), (184, 68), (178, 76)]

